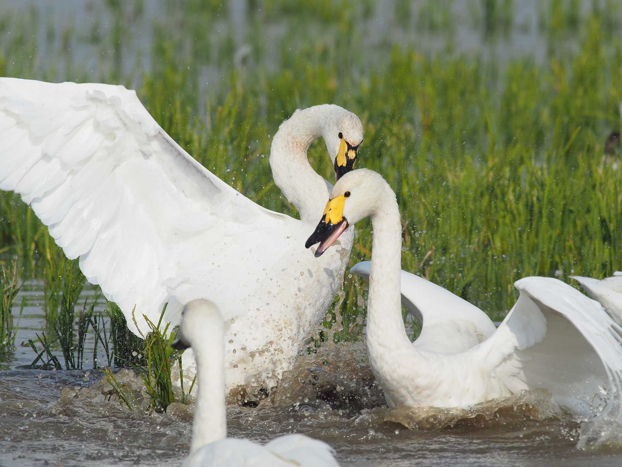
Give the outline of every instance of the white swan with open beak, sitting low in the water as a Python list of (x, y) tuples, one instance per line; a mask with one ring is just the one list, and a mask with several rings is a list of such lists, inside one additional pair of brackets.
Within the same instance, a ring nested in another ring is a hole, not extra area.
[(599, 404), (603, 417), (622, 424), (616, 399), (622, 394), (622, 329), (598, 302), (553, 278), (524, 278), (514, 284), (516, 305), (485, 341), (464, 352), (437, 351), (436, 339), (426, 335), (433, 332), (430, 313), (423, 320), (424, 344), (413, 346), (401, 314), (399, 209), (379, 174), (360, 169), (341, 177), (306, 246), (320, 242), (315, 254), (321, 255), (339, 232), (367, 216), (373, 225), (368, 356), (390, 407), (469, 408), (542, 388), (578, 416)]

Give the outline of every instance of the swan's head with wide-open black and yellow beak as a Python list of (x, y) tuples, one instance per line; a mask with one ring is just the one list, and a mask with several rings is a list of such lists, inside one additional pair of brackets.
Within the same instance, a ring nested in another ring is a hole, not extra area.
[(333, 187), (322, 220), (305, 247), (319, 242), (315, 251), (315, 257), (319, 257), (348, 225), (383, 210), (388, 200), (395, 202), (395, 194), (378, 172), (358, 169), (345, 174)]

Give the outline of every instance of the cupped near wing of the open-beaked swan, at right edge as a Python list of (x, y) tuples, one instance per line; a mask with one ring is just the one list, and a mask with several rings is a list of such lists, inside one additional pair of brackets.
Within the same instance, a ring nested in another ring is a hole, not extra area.
[(544, 388), (575, 413), (622, 423), (622, 329), (597, 301), (554, 278), (514, 283), (518, 301), (475, 361), (509, 390)]

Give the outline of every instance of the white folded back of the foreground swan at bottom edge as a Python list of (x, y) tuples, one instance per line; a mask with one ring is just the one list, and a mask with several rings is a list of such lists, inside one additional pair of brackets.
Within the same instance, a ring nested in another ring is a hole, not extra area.
[(191, 455), (184, 467), (339, 467), (333, 450), (323, 441), (303, 435), (279, 436), (265, 446), (225, 438)]

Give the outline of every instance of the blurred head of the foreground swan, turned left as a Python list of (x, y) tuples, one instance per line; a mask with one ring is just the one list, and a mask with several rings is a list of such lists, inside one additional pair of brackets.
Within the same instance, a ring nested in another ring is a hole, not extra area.
[(223, 318), (215, 304), (209, 300), (193, 300), (183, 307), (179, 335), (170, 346), (176, 350), (195, 347), (206, 339), (208, 331), (216, 333), (223, 326)]

